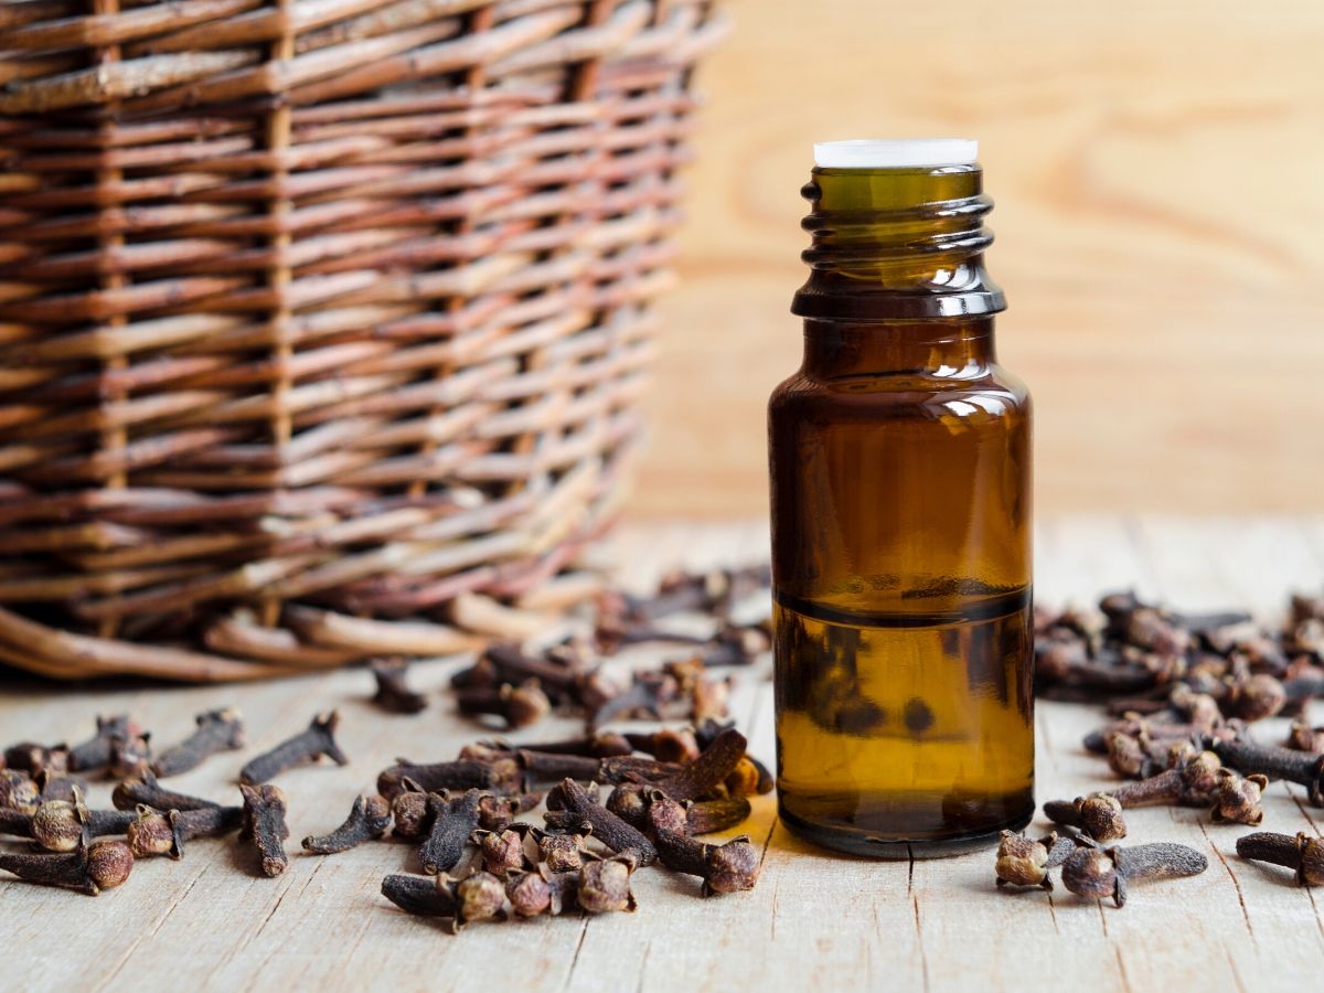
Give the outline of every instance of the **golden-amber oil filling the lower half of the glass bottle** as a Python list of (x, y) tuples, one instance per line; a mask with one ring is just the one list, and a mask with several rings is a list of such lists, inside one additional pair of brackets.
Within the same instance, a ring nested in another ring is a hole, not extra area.
[(776, 597), (781, 814), (810, 841), (953, 854), (1034, 813), (1030, 588), (935, 593), (956, 609)]

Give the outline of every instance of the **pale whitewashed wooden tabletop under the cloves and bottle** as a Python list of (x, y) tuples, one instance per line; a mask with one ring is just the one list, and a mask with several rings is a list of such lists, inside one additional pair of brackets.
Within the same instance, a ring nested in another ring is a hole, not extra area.
[[(663, 565), (707, 565), (763, 555), (761, 526), (633, 527), (613, 542), (628, 583)], [(1068, 519), (1039, 531), (1038, 594), (1082, 601), (1135, 587), (1174, 606), (1247, 605), (1276, 616), (1288, 589), (1324, 585), (1324, 520)], [(455, 662), (416, 666), (418, 688), (442, 686)], [(767, 663), (743, 673), (736, 715), (765, 760), (773, 757)], [(183, 861), (142, 861), (128, 883), (97, 899), (0, 883), (3, 989), (967, 989), (1090, 990), (1317, 988), (1324, 919), (1316, 895), (1286, 870), (1237, 858), (1247, 829), (1209, 824), (1197, 810), (1128, 813), (1129, 842), (1180, 841), (1209, 855), (1202, 876), (1136, 887), (1124, 910), (1061, 887), (1000, 892), (992, 855), (869, 862), (814, 851), (777, 822), (773, 797), (755, 801), (745, 830), (764, 851), (749, 894), (700, 899), (696, 880), (643, 871), (634, 915), (477, 924), (459, 936), (409, 918), (379, 894), (409, 867), (412, 850), (367, 845), (305, 857), (298, 839), (328, 830), (376, 771), (397, 755), (451, 757), (479, 735), (444, 698), (413, 716), (385, 716), (367, 698), (363, 670), (226, 687), (0, 682), (0, 739), (82, 735), (94, 715), (130, 711), (160, 740), (185, 735), (195, 711), (238, 706), (252, 749), (171, 781), (225, 796), (245, 755), (336, 707), (347, 768), (307, 767), (281, 777), (290, 797), (291, 862), (254, 878), (233, 841), (193, 842)], [(1320, 716), (1320, 715), (1316, 715)], [(1041, 704), (1041, 801), (1107, 784), (1082, 752), (1098, 723), (1087, 707)], [(1280, 722), (1262, 728), (1279, 733)], [(543, 724), (516, 740), (575, 727)], [(107, 786), (93, 801), (107, 804)], [(1275, 785), (1264, 829), (1319, 833), (1324, 812), (1303, 790)], [(1035, 825), (1043, 826), (1043, 825)]]

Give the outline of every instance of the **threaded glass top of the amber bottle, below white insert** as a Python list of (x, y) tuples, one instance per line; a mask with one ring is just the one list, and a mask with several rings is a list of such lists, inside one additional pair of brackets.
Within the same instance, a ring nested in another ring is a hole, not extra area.
[(1006, 308), (984, 269), (993, 233), (978, 166), (816, 168), (801, 193), (808, 282), (793, 314), (838, 319), (923, 319)]

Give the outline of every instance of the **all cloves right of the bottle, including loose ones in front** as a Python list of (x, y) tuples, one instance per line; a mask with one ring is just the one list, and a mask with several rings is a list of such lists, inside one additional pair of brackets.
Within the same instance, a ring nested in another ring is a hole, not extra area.
[[(1062, 865), (1068, 890), (1121, 906), (1128, 879), (1194, 875), (1206, 865), (1184, 846), (1103, 847), (1127, 837), (1127, 809), (1192, 806), (1213, 822), (1259, 825), (1274, 780), (1304, 786), (1324, 806), (1324, 730), (1298, 720), (1283, 747), (1250, 731), (1324, 696), (1324, 598), (1294, 596), (1286, 625), (1270, 630), (1249, 614), (1181, 614), (1113, 593), (1096, 612), (1037, 610), (1035, 662), (1041, 696), (1106, 704), (1112, 720), (1083, 744), (1129, 781), (1047, 801), (1043, 813), (1062, 837), (1004, 834), (1000, 886), (1051, 886), (1047, 870)], [(1237, 849), (1298, 870), (1303, 884), (1324, 880), (1317, 839), (1260, 831)]]

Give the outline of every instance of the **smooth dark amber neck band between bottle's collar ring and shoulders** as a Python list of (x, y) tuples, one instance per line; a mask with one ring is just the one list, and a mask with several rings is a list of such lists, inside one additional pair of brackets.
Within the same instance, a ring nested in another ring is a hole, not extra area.
[(993, 318), (805, 320), (802, 372), (812, 379), (915, 373), (976, 379), (997, 360)]

